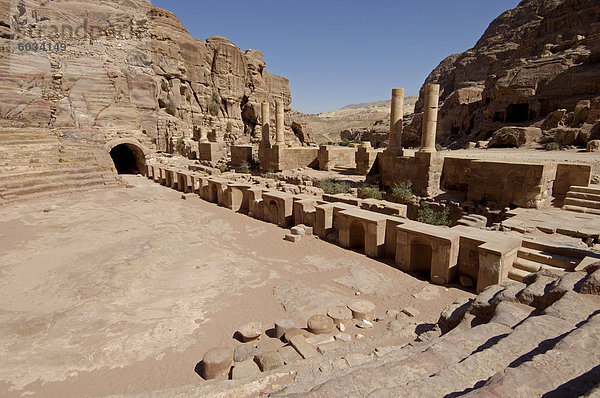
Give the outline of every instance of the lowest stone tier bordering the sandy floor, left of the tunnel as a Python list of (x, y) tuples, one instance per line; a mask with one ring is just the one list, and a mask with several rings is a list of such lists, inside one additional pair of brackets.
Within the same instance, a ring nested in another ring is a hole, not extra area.
[(0, 192), (0, 198), (3, 203), (14, 202), (16, 200), (29, 199), (33, 195), (46, 196), (49, 194), (66, 193), (93, 189), (96, 187), (118, 186), (117, 180), (111, 180), (105, 177), (96, 177), (85, 180), (64, 181), (62, 183), (43, 184), (33, 187), (16, 188)]

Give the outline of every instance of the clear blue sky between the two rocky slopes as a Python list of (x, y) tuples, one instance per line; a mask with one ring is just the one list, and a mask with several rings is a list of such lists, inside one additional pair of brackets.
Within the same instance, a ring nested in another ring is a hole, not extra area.
[(260, 50), (306, 113), (417, 94), (446, 56), (475, 45), (517, 0), (153, 0), (195, 37)]

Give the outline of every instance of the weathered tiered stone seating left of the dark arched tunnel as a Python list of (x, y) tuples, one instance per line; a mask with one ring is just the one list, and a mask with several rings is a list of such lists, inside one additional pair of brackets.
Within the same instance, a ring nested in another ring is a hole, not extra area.
[(0, 132), (0, 203), (117, 186), (110, 155), (96, 145), (47, 129)]

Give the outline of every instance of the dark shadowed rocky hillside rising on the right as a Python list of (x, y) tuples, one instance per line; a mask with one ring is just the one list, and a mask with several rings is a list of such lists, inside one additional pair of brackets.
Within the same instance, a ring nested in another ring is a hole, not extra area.
[(565, 144), (599, 138), (600, 2), (524, 0), (494, 20), (475, 47), (444, 59), (426, 83), (441, 85), (444, 144), (489, 138), (507, 125), (540, 127), (556, 110), (546, 130), (583, 134)]

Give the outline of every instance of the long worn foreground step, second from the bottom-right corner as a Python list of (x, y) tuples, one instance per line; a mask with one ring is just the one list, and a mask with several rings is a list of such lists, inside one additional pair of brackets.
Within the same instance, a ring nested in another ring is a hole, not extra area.
[(573, 300), (573, 295), (569, 294), (557, 303), (550, 307), (550, 313), (555, 315), (545, 312), (543, 315), (531, 316), (517, 324), (510, 334), (500, 339), (490, 339), (464, 360), (449, 365), (432, 376), (393, 388), (380, 388), (370, 396), (444, 397), (459, 396), (476, 389), (496, 373), (518, 366), (552, 349), (575, 330), (581, 320), (586, 320), (597, 310), (593, 305), (582, 306), (580, 300)]

